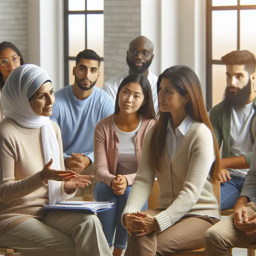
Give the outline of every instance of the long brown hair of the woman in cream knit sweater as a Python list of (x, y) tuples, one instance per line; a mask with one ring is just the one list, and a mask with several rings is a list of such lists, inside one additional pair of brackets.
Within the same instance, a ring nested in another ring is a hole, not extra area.
[[(216, 159), (212, 165), (210, 175), (212, 180), (215, 181), (218, 176), (219, 164), (220, 164), (220, 152), (218, 142), (216, 140), (210, 119), (206, 112), (204, 105), (204, 98), (202, 88), (198, 76), (188, 66), (172, 66), (164, 70), (157, 80), (157, 93), (159, 94), (159, 87), (162, 78), (168, 78), (172, 86), (178, 90), (179, 94), (184, 96), (189, 94), (190, 101), (185, 105), (186, 113), (189, 114), (194, 120), (205, 124), (212, 132), (214, 151)], [(158, 121), (154, 125), (152, 138), (150, 142), (150, 164), (156, 170), (159, 170), (161, 162), (161, 156), (164, 150), (164, 144), (167, 134), (167, 126), (169, 118), (172, 115), (170, 112), (160, 112), (158, 109)], [(159, 170), (160, 171), (160, 170)]]

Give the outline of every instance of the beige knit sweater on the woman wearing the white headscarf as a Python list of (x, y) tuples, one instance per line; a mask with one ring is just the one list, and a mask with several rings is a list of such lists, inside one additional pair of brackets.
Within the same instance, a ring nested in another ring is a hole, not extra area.
[[(60, 166), (64, 168), (59, 126), (52, 122), (60, 146)], [(41, 128), (24, 128), (6, 118), (0, 123), (0, 232), (6, 232), (28, 217), (42, 220), (48, 211), (48, 186), (39, 172), (45, 165)], [(62, 200), (74, 196), (61, 186)], [(24, 218), (25, 217), (25, 218)]]

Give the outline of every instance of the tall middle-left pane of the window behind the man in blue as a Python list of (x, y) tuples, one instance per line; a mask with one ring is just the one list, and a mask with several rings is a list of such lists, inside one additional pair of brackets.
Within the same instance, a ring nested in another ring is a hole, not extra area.
[(85, 49), (85, 15), (68, 15), (68, 55), (76, 56)]

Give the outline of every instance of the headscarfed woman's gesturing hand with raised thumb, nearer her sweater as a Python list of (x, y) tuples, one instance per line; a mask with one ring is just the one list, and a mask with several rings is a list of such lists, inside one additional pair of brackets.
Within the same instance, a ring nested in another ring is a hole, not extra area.
[(44, 166), (43, 170), (40, 171), (40, 176), (43, 182), (47, 183), (48, 180), (68, 181), (68, 180), (72, 180), (72, 178), (76, 178), (76, 172), (73, 172), (71, 170), (62, 171), (62, 170), (51, 169), (50, 166), (52, 165), (52, 163), (53, 163), (53, 160), (51, 159)]

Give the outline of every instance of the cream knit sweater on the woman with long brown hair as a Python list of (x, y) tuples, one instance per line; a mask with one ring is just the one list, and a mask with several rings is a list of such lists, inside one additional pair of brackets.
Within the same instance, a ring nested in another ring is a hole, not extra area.
[(160, 187), (159, 208), (166, 209), (154, 217), (161, 232), (185, 214), (208, 215), (220, 219), (218, 202), (208, 176), (215, 154), (208, 127), (196, 121), (191, 124), (176, 151), (172, 166), (166, 140), (160, 172), (150, 166), (151, 136), (152, 129), (144, 138), (142, 158), (124, 208), (122, 224), (125, 226), (124, 214), (141, 210), (150, 195), (155, 175)]

